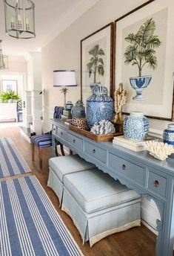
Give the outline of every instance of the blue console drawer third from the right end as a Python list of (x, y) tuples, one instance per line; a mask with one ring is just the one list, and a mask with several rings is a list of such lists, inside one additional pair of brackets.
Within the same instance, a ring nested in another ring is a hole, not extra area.
[(103, 163), (107, 161), (107, 153), (105, 150), (102, 150), (100, 147), (96, 147), (86, 141), (84, 142), (84, 152)]

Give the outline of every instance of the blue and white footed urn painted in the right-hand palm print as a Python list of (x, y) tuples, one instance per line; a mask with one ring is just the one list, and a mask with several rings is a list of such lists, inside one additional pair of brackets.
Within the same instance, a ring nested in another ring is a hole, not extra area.
[(145, 100), (145, 97), (142, 96), (142, 91), (145, 88), (147, 88), (151, 80), (151, 75), (141, 77), (130, 77), (130, 85), (136, 91), (136, 95), (133, 97), (133, 100)]

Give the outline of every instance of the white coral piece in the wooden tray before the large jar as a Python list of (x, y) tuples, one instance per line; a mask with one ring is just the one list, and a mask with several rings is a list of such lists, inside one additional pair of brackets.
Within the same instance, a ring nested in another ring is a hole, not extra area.
[(96, 135), (101, 135), (116, 132), (116, 129), (110, 121), (101, 120), (98, 123), (95, 123), (90, 131)]

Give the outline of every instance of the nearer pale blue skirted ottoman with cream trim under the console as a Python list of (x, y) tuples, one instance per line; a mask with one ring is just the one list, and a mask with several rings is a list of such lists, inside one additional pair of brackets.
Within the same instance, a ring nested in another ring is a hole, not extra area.
[(90, 246), (109, 234), (141, 225), (140, 196), (97, 168), (64, 176), (61, 210)]

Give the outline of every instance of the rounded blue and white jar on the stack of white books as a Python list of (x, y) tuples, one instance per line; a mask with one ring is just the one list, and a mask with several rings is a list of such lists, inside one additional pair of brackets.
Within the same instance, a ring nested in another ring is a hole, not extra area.
[(124, 138), (135, 141), (142, 141), (149, 132), (149, 121), (141, 112), (131, 112), (124, 118)]

